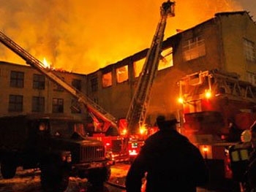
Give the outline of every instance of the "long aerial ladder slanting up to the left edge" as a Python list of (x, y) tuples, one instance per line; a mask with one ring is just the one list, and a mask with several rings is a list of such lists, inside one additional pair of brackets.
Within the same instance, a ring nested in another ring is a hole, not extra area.
[(29, 54), (26, 50), (20, 47), (20, 45), (16, 44), (14, 41), (12, 41), (12, 39), (7, 37), (1, 31), (0, 31), (0, 42), (4, 44), (6, 47), (8, 47), (10, 50), (12, 50), (12, 52), (19, 55), (20, 58), (23, 58), (23, 60), (26, 61), (26, 64), (29, 64), (30, 66), (37, 69), (39, 72), (42, 72), (42, 74), (45, 74), (50, 80), (52, 80), (53, 82), (56, 82), (66, 91), (71, 93), (72, 96), (78, 99), (78, 102), (85, 105), (85, 107), (89, 110), (89, 114), (96, 115), (98, 118), (100, 118), (105, 122), (108, 122), (108, 124), (110, 124), (115, 128), (118, 127), (116, 123), (116, 118), (114, 118), (113, 115), (110, 115), (110, 113), (103, 110), (102, 107), (100, 107), (98, 104), (92, 101), (84, 93), (82, 93), (81, 91), (78, 91), (78, 89), (74, 88), (72, 85), (69, 85), (67, 82), (65, 82), (61, 77), (59, 77), (56, 73), (54, 73), (52, 69), (45, 68), (44, 64), (42, 64), (41, 61), (37, 60), (37, 58), (34, 58), (34, 56)]

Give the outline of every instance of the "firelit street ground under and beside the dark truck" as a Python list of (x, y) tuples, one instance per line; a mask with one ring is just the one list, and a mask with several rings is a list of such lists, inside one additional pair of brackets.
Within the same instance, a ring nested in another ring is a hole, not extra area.
[[(116, 164), (111, 168), (111, 177), (102, 188), (91, 188), (86, 179), (69, 177), (69, 185), (65, 192), (125, 192), (124, 181), (129, 164)], [(18, 168), (13, 179), (4, 180), (0, 176), (0, 192), (43, 192), (40, 186), (39, 170), (22, 170)], [(116, 188), (120, 186), (121, 188)], [(217, 192), (198, 188), (197, 192)], [(222, 192), (222, 191), (218, 191)]]

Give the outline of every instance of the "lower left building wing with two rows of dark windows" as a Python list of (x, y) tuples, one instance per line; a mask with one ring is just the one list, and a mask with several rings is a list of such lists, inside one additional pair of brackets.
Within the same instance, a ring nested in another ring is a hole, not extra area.
[[(56, 74), (79, 91), (86, 91), (86, 75)], [(70, 93), (31, 66), (1, 61), (0, 86), (0, 116), (33, 112), (81, 115), (78, 102)]]

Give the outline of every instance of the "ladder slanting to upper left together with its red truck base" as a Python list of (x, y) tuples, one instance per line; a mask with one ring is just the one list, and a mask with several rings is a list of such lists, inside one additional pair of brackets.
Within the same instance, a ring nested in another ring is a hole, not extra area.
[[(103, 123), (103, 131), (108, 130), (108, 128), (114, 128), (118, 133), (118, 125), (116, 118), (113, 117), (109, 112), (105, 111), (102, 107), (100, 107), (98, 104), (96, 104), (94, 101), (92, 101), (86, 94), (82, 93), (81, 91), (78, 91), (75, 87), (72, 85), (69, 85), (69, 83), (65, 82), (61, 77), (58, 76), (58, 74), (54, 73), (52, 69), (46, 68), (44, 64), (42, 64), (41, 61), (37, 60), (37, 58), (34, 58), (31, 54), (29, 54), (26, 50), (24, 50), (20, 45), (16, 44), (12, 39), (7, 37), (4, 33), (0, 31), (0, 42), (4, 44), (6, 47), (8, 47), (10, 50), (12, 50), (14, 53), (20, 56), (20, 58), (23, 58), (26, 61), (26, 64), (29, 64), (30, 66), (37, 69), (39, 72), (42, 72), (42, 74), (45, 74), (46, 77), (48, 77), (53, 82), (56, 82), (58, 85), (60, 85), (64, 90), (71, 93), (72, 96), (74, 96), (78, 103), (80, 104), (80, 107), (84, 105), (86, 107), (86, 110), (89, 112), (89, 115), (91, 118), (96, 122), (95, 124), (99, 124), (99, 119)], [(102, 141), (106, 147), (106, 150), (108, 152), (108, 157), (110, 157), (111, 161), (113, 161), (113, 157), (116, 158), (123, 158), (119, 156), (125, 156), (124, 158), (128, 158), (128, 152), (123, 147), (118, 147), (116, 150), (116, 154), (113, 153), (113, 144), (109, 147), (107, 145), (107, 139), (110, 140), (110, 142), (116, 143), (116, 145), (120, 145), (120, 142), (123, 143), (124, 139), (121, 137), (118, 137), (118, 135), (115, 135), (115, 137), (94, 137), (94, 139), (98, 139)], [(106, 138), (106, 139), (104, 139)], [(115, 145), (115, 146), (116, 146)], [(119, 151), (121, 150), (121, 151)], [(121, 154), (121, 155), (120, 155)], [(113, 161), (114, 162), (114, 161)]]

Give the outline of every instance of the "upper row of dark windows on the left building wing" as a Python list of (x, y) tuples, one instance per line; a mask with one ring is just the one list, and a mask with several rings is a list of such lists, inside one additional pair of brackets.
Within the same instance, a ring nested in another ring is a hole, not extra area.
[[(25, 76), (24, 72), (11, 71), (10, 86), (12, 88), (23, 88), (24, 76)], [(78, 91), (81, 91), (81, 88), (82, 88), (81, 80), (73, 79), (71, 84), (74, 88), (78, 89)], [(45, 75), (33, 74), (33, 88), (40, 89), (40, 90), (45, 89)], [(60, 85), (55, 83), (53, 85), (53, 91), (64, 91), (64, 88), (62, 88)]]

